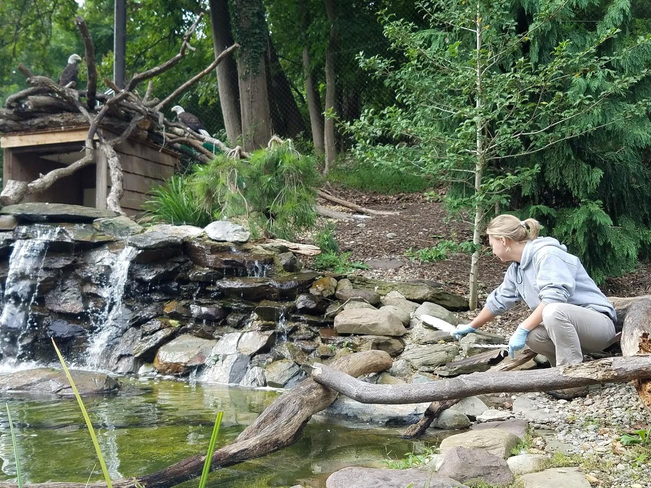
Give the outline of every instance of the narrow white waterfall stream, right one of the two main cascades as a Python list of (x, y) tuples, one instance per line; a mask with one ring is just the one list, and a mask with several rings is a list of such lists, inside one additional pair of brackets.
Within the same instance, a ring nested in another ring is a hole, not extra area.
[(125, 246), (119, 254), (111, 253), (109, 255), (111, 262), (104, 263), (111, 267), (111, 275), (109, 275), (105, 286), (106, 305), (92, 320), (96, 333), (89, 339), (86, 366), (90, 368), (100, 366), (102, 353), (109, 340), (120, 332), (117, 319), (122, 310), (122, 297), (124, 297), (124, 286), (129, 275), (129, 266), (136, 254), (138, 254), (138, 250), (135, 247)]

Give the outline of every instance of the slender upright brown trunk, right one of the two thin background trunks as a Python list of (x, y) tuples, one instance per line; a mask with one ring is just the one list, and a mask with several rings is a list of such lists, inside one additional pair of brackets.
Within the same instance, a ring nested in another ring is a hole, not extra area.
[(326, 49), (326, 121), (324, 123), (324, 144), (326, 148), (326, 166), (324, 174), (328, 174), (331, 165), (337, 159), (337, 142), (335, 141), (335, 120), (327, 114), (333, 114), (337, 102), (337, 75), (335, 72), (335, 49), (337, 47), (337, 3), (336, 0), (324, 0), (327, 18), (330, 23), (330, 34)]

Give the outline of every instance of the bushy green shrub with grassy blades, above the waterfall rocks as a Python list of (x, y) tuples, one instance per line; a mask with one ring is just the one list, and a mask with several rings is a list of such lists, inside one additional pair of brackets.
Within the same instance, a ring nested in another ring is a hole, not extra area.
[(291, 240), (316, 223), (319, 182), (314, 159), (284, 141), (249, 159), (220, 154), (187, 176), (174, 176), (154, 189), (146, 210), (154, 221), (205, 226), (228, 219), (248, 226), (253, 237)]

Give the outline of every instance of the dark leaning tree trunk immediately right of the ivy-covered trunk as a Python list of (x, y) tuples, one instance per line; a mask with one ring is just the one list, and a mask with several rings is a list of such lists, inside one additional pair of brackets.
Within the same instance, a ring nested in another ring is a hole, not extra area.
[[(301, 111), (296, 105), (292, 88), (284, 74), (283, 66), (278, 59), (278, 53), (269, 38), (267, 49), (268, 90), (271, 108), (273, 133), (281, 137), (296, 137), (305, 131), (305, 122)], [(274, 117), (275, 114), (275, 117)]]

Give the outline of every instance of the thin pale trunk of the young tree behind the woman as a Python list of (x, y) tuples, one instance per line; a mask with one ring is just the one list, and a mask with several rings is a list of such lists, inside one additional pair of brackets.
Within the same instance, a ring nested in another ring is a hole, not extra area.
[[(482, 64), (481, 64), (481, 49), (482, 49), (482, 20), (477, 5), (477, 20), (475, 23), (477, 29), (477, 94), (475, 95), (475, 107), (477, 112), (482, 107), (483, 103), (483, 87), (482, 87)], [(483, 118), (477, 121), (477, 159), (475, 163), (475, 198), (478, 197), (482, 189), (482, 172), (485, 163), (485, 144), (484, 144), (484, 124)], [(470, 264), (470, 282), (469, 282), (469, 297), (468, 305), (470, 310), (477, 309), (477, 292), (478, 292), (478, 277), (479, 277), (479, 256), (480, 256), (480, 243), (481, 243), (481, 225), (484, 219), (484, 209), (481, 202), (475, 202), (475, 223), (473, 226), (473, 244), (475, 245), (475, 252), (471, 258)]]

